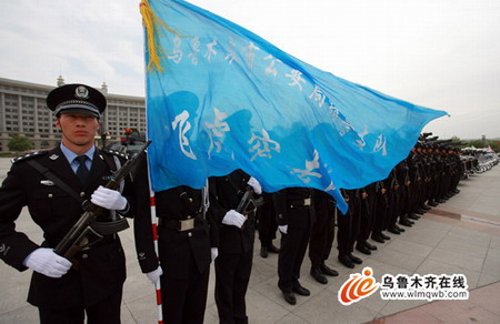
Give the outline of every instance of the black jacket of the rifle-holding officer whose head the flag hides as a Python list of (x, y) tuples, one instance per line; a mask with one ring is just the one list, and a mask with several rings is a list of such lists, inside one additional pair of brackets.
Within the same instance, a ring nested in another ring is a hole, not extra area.
[(222, 219), (230, 210), (237, 210), (247, 191), (250, 175), (242, 170), (236, 170), (224, 176), (210, 178), (210, 209), (212, 224), (216, 227), (219, 253), (242, 253), (253, 249), (256, 236), (254, 212), (250, 212), (241, 229), (222, 224)]

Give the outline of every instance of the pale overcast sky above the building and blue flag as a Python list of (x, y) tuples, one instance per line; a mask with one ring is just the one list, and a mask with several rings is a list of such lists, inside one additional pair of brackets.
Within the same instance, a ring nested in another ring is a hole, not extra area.
[[(450, 117), (424, 132), (500, 138), (499, 0), (192, 0), (321, 70)], [(144, 95), (139, 0), (0, 3), (0, 78)]]

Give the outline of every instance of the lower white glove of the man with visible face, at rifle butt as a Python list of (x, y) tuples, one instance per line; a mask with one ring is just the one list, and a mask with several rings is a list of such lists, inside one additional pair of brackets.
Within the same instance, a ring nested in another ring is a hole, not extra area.
[(57, 255), (52, 249), (39, 247), (24, 259), (23, 264), (50, 277), (61, 277), (71, 267), (71, 262)]

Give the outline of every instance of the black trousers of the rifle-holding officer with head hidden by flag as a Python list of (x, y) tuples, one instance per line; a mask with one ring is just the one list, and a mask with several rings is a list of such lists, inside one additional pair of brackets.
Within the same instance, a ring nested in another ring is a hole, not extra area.
[(216, 259), (216, 303), (220, 323), (248, 323), (244, 296), (252, 257), (253, 249), (243, 253), (221, 253)]

